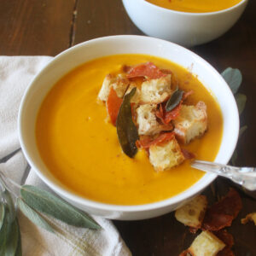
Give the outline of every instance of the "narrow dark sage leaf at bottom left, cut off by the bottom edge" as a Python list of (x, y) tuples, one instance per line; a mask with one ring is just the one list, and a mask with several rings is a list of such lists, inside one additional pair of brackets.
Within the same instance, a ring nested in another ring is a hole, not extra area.
[(5, 247), (5, 256), (15, 256), (19, 241), (19, 226), (17, 220), (11, 224), (11, 230)]

